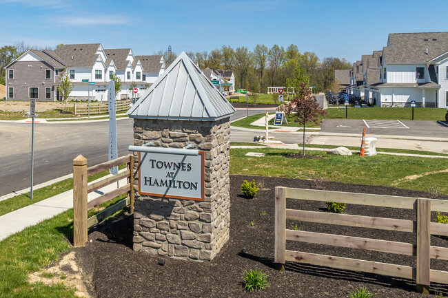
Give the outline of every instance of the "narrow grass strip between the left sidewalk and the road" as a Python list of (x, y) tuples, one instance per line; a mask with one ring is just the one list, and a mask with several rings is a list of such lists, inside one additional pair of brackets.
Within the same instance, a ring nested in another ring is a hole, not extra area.
[[(125, 164), (119, 166), (119, 169), (124, 168)], [(90, 175), (88, 177), (88, 182), (99, 179), (108, 174), (109, 171), (106, 170), (94, 175)], [(41, 200), (51, 198), (52, 196), (58, 195), (59, 193), (70, 191), (70, 189), (73, 189), (73, 178), (68, 178), (60, 182), (48, 185), (47, 187), (42, 187), (41, 189), (34, 190), (32, 200), (30, 200), (31, 193), (28, 192), (23, 193), (22, 195), (16, 195), (15, 197), (9, 198), (7, 200), (0, 201), (0, 216), (17, 209), (21, 209), (25, 206), (40, 202)]]

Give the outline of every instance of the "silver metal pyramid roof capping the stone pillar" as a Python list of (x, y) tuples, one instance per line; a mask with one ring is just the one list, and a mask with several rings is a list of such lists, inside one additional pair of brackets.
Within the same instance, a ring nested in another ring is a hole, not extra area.
[(234, 114), (193, 61), (182, 52), (129, 109), (130, 118), (215, 121)]

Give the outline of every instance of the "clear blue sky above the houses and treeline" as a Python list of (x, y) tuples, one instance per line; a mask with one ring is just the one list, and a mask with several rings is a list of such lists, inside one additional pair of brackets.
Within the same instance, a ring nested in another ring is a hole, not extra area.
[(448, 1), (0, 0), (0, 46), (26, 41), (102, 43), (136, 55), (258, 43), (350, 62), (381, 50), (392, 32), (447, 31)]

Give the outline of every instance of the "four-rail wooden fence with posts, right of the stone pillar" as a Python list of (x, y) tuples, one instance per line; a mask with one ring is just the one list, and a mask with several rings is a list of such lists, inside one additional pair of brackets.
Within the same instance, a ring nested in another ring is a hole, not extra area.
[[(274, 262), (279, 270), (285, 270), (286, 261), (327, 266), (345, 270), (363, 271), (394, 277), (415, 279), (418, 292), (428, 293), (431, 281), (448, 284), (448, 272), (431, 270), (430, 259), (448, 260), (448, 248), (431, 246), (432, 235), (448, 235), (448, 224), (431, 222), (431, 211), (448, 212), (448, 201), (425, 198), (406, 198), (392, 195), (371, 195), (365, 193), (344, 193), (340, 191), (319, 191), (312, 189), (291, 189), (276, 187), (275, 195), (275, 251)], [(286, 199), (341, 202), (368, 206), (383, 206), (400, 209), (414, 209), (417, 220), (370, 217), (361, 215), (332, 214), (316, 211), (286, 208)], [(350, 237), (343, 235), (293, 231), (286, 228), (286, 220), (317, 222), (363, 228), (377, 228), (389, 231), (416, 233), (416, 243)], [(287, 251), (286, 241), (325, 244), (347, 248), (358, 248), (384, 253), (396, 253), (417, 257), (416, 267), (371, 262), (332, 255), (318, 255)]]

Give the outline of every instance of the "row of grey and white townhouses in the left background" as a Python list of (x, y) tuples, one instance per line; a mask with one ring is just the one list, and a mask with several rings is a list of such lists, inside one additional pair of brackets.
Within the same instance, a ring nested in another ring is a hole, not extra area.
[[(103, 49), (101, 43), (63, 45), (54, 51), (28, 50), (6, 66), (6, 99), (60, 100), (57, 84), (63, 69), (74, 85), (70, 99), (108, 100), (107, 85), (112, 74), (121, 79), (117, 98), (132, 98), (134, 94), (130, 87), (139, 89), (136, 94), (139, 98), (141, 90), (155, 81), (152, 77), (163, 73), (163, 58), (157, 56), (156, 59), (159, 59), (156, 67), (146, 65), (146, 61), (135, 57), (130, 48)], [(149, 82), (145, 80), (145, 74), (150, 77)]]

